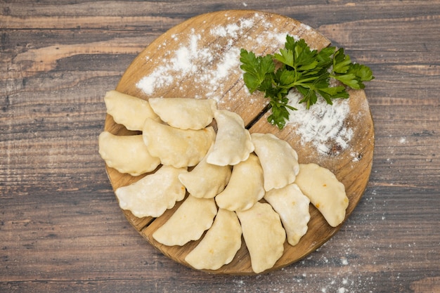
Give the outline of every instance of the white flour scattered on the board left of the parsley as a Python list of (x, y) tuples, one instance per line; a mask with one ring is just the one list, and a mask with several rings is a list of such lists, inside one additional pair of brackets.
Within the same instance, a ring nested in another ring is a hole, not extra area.
[[(228, 15), (225, 17), (231, 18)], [(259, 37), (252, 38), (247, 32), (252, 30), (256, 22), (266, 30)], [(214, 26), (209, 32), (204, 30), (196, 32), (193, 29), (186, 39), (179, 34), (173, 34), (170, 41), (179, 41), (179, 48), (164, 53), (162, 60), (152, 60), (147, 56), (146, 65), (154, 67), (155, 70), (142, 77), (136, 83), (136, 87), (145, 95), (154, 96), (157, 89), (172, 86), (183, 79), (191, 79), (191, 86), (194, 89), (204, 89), (208, 86), (209, 91), (202, 91), (202, 95), (219, 101), (221, 99), (219, 93), (224, 95), (228, 91), (224, 89), (223, 81), (231, 76), (238, 79), (242, 76), (240, 70), (242, 46), (235, 44), (238, 39), (245, 39), (249, 46), (248, 50), (261, 47), (262, 44), (275, 50), (284, 45), (286, 35), (287, 32), (279, 32), (277, 28), (273, 28), (271, 22), (260, 13), (255, 13), (251, 18), (230, 19), (228, 25)], [(216, 42), (209, 44), (208, 47), (200, 46), (202, 37), (216, 37)], [(167, 45), (161, 44), (160, 48), (166, 48)], [(215, 93), (216, 91), (218, 93)]]

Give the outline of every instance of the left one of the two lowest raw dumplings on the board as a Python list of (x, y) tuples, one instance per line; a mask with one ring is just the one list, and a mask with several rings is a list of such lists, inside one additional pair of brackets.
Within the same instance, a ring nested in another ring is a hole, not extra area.
[(197, 270), (216, 270), (230, 263), (241, 247), (241, 226), (233, 211), (219, 209), (212, 227), (186, 257)]

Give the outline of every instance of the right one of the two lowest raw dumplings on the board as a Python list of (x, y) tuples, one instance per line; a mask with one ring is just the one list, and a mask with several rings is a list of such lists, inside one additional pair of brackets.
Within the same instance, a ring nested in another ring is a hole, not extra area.
[(252, 271), (261, 273), (283, 256), (285, 230), (280, 216), (270, 204), (256, 202), (246, 211), (237, 211)]

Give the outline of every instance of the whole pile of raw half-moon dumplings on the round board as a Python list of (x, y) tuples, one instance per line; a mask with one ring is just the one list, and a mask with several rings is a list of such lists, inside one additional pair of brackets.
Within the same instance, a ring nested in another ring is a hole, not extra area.
[(215, 100), (143, 100), (108, 91), (105, 106), (116, 123), (141, 131), (103, 131), (98, 139), (108, 167), (147, 174), (115, 190), (119, 206), (136, 217), (160, 217), (183, 201), (153, 238), (173, 246), (204, 235), (185, 258), (195, 269), (230, 263), (242, 239), (254, 273), (272, 268), (285, 241), (295, 246), (306, 234), (310, 203), (330, 226), (344, 221), (349, 200), (330, 170), (299, 164), (289, 143), (250, 134), (238, 114), (219, 110)]

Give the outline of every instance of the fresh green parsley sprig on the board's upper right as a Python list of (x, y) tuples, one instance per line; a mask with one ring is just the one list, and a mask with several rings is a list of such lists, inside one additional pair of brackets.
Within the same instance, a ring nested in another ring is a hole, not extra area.
[[(262, 91), (270, 98), (272, 113), (268, 122), (279, 129), (283, 129), (289, 119), (287, 109), (297, 110), (288, 105), (290, 89), (295, 88), (302, 94), (299, 103), (306, 103), (309, 109), (320, 96), (332, 105), (333, 98), (349, 98), (347, 87), (363, 89), (363, 82), (374, 79), (370, 68), (352, 63), (343, 48), (328, 46), (321, 51), (311, 50), (304, 39), (295, 41), (289, 35), (280, 53), (255, 56), (242, 48), (240, 62), (250, 93)], [(331, 79), (339, 81), (339, 85), (330, 85)]]

